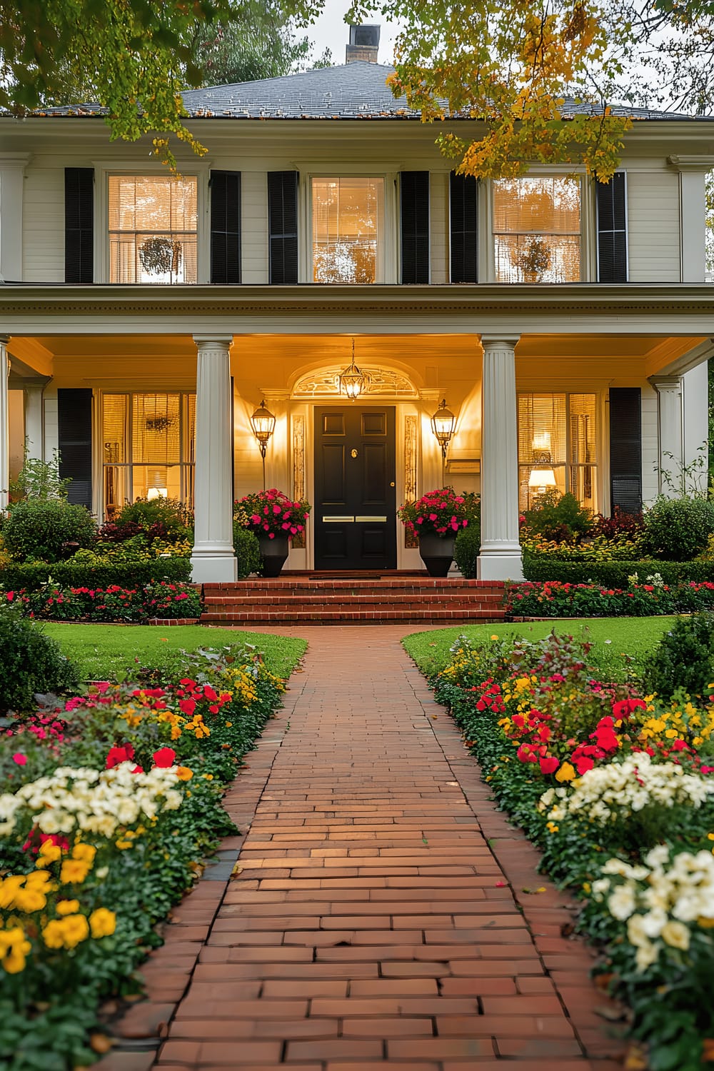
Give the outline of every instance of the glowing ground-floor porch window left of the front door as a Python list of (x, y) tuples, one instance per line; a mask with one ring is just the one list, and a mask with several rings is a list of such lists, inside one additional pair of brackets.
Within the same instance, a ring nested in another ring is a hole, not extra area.
[(195, 394), (104, 394), (102, 463), (107, 519), (137, 498), (193, 507)]

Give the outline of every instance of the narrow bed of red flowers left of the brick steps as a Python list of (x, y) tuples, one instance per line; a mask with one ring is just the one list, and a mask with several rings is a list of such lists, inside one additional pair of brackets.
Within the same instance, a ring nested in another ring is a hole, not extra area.
[(6, 591), (4, 598), (19, 603), (30, 617), (55, 621), (195, 621), (201, 614), (201, 595), (195, 587), (165, 580), (135, 588), (116, 584), (106, 588), (60, 588), (50, 583), (40, 591)]

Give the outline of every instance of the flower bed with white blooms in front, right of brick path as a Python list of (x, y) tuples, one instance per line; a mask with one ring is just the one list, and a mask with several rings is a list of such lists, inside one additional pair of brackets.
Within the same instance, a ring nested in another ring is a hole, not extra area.
[(714, 1037), (714, 705), (608, 685), (587, 653), (462, 637), (436, 696), (543, 868), (581, 897), (648, 1066), (695, 1071)]

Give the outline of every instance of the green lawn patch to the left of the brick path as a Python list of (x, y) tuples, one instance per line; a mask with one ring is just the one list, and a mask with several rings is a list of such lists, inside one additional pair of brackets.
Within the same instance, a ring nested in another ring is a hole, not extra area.
[(207, 629), (199, 624), (162, 629), (148, 624), (45, 623), (43, 628), (78, 666), (82, 680), (110, 680), (136, 665), (180, 668), (184, 663), (183, 651), (227, 645), (242, 647), (244, 644), (252, 644), (263, 652), (265, 665), (272, 673), (288, 677), (307, 647), (304, 639)]

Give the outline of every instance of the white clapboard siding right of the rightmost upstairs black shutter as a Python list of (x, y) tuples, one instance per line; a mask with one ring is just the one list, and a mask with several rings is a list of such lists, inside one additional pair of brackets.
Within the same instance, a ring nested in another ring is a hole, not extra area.
[(627, 218), (629, 282), (679, 283), (679, 175), (628, 171)]

